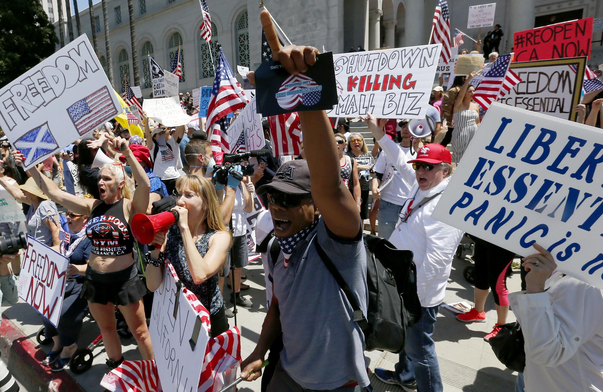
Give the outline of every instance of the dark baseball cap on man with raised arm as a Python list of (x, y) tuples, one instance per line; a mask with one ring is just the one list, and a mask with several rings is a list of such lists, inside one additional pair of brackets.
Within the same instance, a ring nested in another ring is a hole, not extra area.
[(295, 159), (283, 163), (274, 174), (272, 182), (260, 186), (256, 192), (261, 195), (270, 191), (270, 189), (288, 194), (309, 194), (311, 189), (308, 162), (305, 159)]

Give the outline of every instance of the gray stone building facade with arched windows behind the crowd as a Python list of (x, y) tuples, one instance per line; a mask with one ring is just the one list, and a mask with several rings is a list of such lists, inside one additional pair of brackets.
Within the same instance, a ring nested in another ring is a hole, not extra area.
[[(40, 0), (45, 10), (54, 15), (58, 34), (59, 0)], [(65, 0), (71, 1), (71, 0)], [(214, 77), (213, 62), (221, 45), (236, 72), (236, 65), (255, 68), (260, 62), (261, 25), (259, 0), (206, 0), (212, 17), (212, 44), (200, 37), (203, 22), (199, 0), (132, 0), (136, 23), (136, 49), (142, 95), (151, 95), (147, 55), (169, 71), (178, 47), (182, 50), (183, 77), (180, 90), (191, 91), (209, 86)], [(490, 0), (491, 1), (491, 0)], [(484, 1), (485, 2), (485, 1)], [(467, 29), (469, 6), (476, 0), (448, 0), (450, 28), (464, 31), (478, 39), (478, 29)], [(52, 4), (52, 7), (51, 7)], [(321, 51), (347, 52), (358, 47), (370, 50), (382, 47), (412, 46), (428, 43), (437, 0), (266, 0), (264, 5), (295, 44), (313, 45)], [(98, 57), (107, 71), (113, 69), (113, 85), (122, 90), (124, 76), (134, 85), (132, 48), (127, 0), (106, 0), (109, 19), (111, 64), (107, 64), (105, 28), (101, 2), (93, 5), (93, 26), (89, 10), (80, 11), (82, 33), (92, 42), (95, 29)], [(74, 7), (72, 6), (73, 10)], [(66, 7), (63, 6), (65, 14)], [(505, 36), (500, 49), (510, 51), (513, 31), (527, 30), (553, 22), (581, 17), (603, 17), (600, 0), (499, 0), (495, 19)], [(63, 36), (68, 43), (67, 20)], [(75, 31), (74, 35), (77, 36)], [(482, 37), (487, 33), (482, 29)], [(463, 48), (472, 49), (465, 40)], [(603, 63), (603, 32), (593, 34), (593, 55), (589, 65)], [(58, 46), (57, 46), (58, 49)]]

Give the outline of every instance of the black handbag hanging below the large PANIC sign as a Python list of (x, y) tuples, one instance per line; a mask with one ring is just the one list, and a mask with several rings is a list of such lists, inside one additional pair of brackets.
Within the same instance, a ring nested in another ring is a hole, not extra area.
[(526, 352), (523, 344), (523, 331), (519, 323), (508, 323), (499, 326), (500, 330), (488, 343), (496, 358), (503, 365), (514, 371), (523, 373), (526, 367)]

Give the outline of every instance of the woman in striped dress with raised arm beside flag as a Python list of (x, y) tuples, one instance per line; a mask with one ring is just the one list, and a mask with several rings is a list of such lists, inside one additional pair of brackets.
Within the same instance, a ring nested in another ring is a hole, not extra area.
[(479, 106), (473, 102), (475, 87), (469, 85), (477, 74), (477, 72), (471, 72), (467, 76), (454, 103), (455, 132), (452, 134), (452, 160), (456, 163), (461, 162), (461, 158), (479, 126)]

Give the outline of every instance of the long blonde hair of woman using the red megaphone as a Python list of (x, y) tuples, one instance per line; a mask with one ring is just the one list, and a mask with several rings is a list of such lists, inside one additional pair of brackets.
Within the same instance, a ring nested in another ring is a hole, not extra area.
[(178, 193), (184, 192), (185, 189), (190, 189), (198, 194), (205, 206), (205, 212), (201, 219), (205, 221), (207, 229), (227, 232), (231, 235), (232, 241), (232, 234), (224, 226), (222, 213), (218, 205), (218, 197), (216, 197), (216, 191), (213, 188), (211, 180), (201, 177), (201, 175), (186, 174), (176, 181), (176, 189)]

